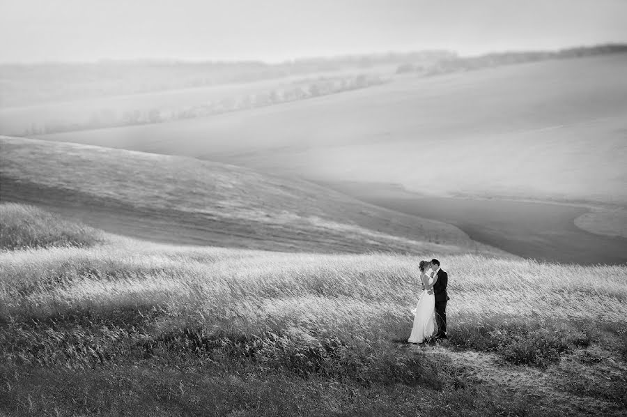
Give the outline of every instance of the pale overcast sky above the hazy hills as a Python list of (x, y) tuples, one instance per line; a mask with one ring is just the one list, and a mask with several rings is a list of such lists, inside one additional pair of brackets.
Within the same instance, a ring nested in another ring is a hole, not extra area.
[(627, 43), (627, 0), (0, 0), (0, 62), (278, 62)]

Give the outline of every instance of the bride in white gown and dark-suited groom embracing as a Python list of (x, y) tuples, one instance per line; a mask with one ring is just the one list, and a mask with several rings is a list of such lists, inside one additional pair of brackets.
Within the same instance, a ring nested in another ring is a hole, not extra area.
[(440, 261), (420, 261), (422, 292), (414, 312), (414, 326), (408, 339), (410, 343), (424, 343), (435, 334), (438, 339), (447, 338), (447, 284), (449, 274), (442, 271)]

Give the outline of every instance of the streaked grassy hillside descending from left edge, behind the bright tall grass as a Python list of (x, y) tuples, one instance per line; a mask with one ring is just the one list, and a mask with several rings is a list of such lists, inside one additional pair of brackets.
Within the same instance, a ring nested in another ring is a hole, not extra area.
[(318, 185), (192, 158), (0, 137), (0, 199), (169, 243), (311, 252), (504, 252)]

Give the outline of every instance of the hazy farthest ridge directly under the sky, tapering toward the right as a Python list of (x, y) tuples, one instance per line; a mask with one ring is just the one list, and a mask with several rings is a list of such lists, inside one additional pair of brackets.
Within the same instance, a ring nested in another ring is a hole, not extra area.
[(256, 82), (321, 72), (353, 70), (404, 61), (442, 59), (447, 51), (423, 51), (261, 61), (185, 62), (165, 60), (96, 63), (0, 64), (0, 105), (12, 107), (61, 100), (150, 93), (219, 84)]

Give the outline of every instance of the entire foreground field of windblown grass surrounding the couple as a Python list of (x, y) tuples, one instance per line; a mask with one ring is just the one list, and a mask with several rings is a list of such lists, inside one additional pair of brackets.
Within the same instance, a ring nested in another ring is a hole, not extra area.
[(0, 414), (619, 416), (627, 407), (625, 266), (441, 257), (450, 338), (419, 348), (404, 340), (417, 264), (433, 252), (194, 248), (96, 231), (86, 240), (67, 237), (86, 227), (51, 226), (50, 216), (0, 205)]

